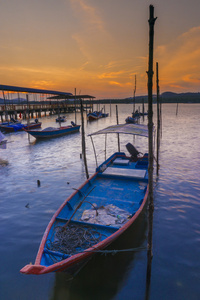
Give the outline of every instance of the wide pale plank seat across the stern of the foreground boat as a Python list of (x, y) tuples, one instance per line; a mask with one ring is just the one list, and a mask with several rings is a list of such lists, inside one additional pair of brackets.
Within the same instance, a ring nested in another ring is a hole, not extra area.
[(146, 170), (108, 167), (103, 172), (103, 174), (109, 175), (109, 176), (120, 176), (120, 177), (144, 179), (145, 175), (146, 175)]

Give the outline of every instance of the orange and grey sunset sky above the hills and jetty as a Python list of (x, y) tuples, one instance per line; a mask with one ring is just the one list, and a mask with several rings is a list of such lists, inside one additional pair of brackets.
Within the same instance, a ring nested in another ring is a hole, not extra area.
[(153, 92), (200, 92), (199, 0), (0, 0), (0, 84), (146, 95), (150, 4)]

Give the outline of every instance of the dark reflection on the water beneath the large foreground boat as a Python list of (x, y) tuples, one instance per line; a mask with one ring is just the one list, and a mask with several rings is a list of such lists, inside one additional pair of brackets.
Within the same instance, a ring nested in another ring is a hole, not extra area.
[[(136, 223), (107, 250), (146, 248), (146, 231), (147, 214), (144, 211)], [(146, 253), (146, 249), (139, 251)], [(113, 299), (134, 268), (134, 259), (138, 253), (96, 254), (73, 279), (65, 273), (56, 273), (51, 300)], [(138, 289), (137, 284), (134, 288)]]

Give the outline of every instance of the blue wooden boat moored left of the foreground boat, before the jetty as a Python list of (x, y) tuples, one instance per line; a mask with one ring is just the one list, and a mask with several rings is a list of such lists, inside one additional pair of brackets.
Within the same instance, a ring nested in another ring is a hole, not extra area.
[(55, 138), (55, 137), (60, 137), (63, 135), (75, 133), (78, 132), (79, 129), (80, 129), (80, 125), (74, 125), (74, 126), (69, 125), (69, 126), (62, 126), (59, 128), (47, 127), (43, 130), (27, 130), (27, 129), (24, 130), (36, 139), (48, 139), (48, 138)]

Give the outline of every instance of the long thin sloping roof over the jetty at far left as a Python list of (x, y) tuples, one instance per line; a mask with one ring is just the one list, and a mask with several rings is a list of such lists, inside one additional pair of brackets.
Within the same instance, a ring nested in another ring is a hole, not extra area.
[(0, 85), (0, 91), (35, 93), (35, 94), (50, 94), (50, 95), (65, 95), (65, 96), (71, 96), (72, 95), (71, 93), (65, 93), (65, 92), (24, 88), (24, 87), (17, 87), (17, 86), (11, 86), (11, 85)]

